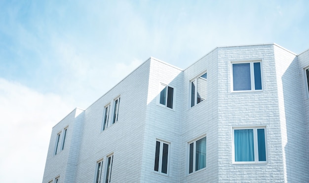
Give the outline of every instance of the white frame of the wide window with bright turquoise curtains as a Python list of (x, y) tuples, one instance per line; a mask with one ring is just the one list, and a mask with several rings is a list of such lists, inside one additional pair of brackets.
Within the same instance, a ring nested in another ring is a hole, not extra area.
[[(253, 129), (253, 139), (254, 139), (254, 161), (235, 161), (235, 140), (234, 140), (234, 130), (241, 129)], [(259, 161), (259, 148), (258, 148), (258, 134), (257, 129), (264, 129), (265, 135), (265, 153), (266, 161)], [(267, 131), (266, 126), (246, 126), (246, 127), (232, 127), (232, 163), (233, 164), (267, 164), (268, 163), (268, 151), (267, 151)]]

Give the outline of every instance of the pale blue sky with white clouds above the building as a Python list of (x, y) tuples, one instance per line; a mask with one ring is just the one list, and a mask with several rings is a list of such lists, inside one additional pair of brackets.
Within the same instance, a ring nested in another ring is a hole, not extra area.
[(40, 183), (52, 127), (150, 57), (309, 49), (308, 0), (1, 0), (0, 182)]

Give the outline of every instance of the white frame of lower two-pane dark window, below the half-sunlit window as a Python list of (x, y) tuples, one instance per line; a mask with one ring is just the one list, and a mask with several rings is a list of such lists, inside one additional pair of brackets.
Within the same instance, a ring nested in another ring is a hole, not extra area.
[[(161, 139), (156, 139), (155, 141), (155, 148), (156, 148), (156, 142), (160, 142), (160, 147), (159, 147), (159, 162), (158, 162), (158, 171), (154, 170), (154, 173), (156, 174), (162, 174), (165, 176), (169, 175), (169, 161), (170, 161), (170, 149), (171, 149), (171, 143), (165, 140)], [(166, 174), (162, 172), (162, 155), (163, 155), (163, 144), (168, 145), (167, 149), (167, 169), (166, 169)], [(155, 164), (155, 154), (154, 154), (154, 164)], [(155, 165), (154, 165), (155, 166)]]

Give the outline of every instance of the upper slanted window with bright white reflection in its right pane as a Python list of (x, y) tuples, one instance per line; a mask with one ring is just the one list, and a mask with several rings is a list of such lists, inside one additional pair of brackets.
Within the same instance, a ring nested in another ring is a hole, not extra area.
[(191, 107), (206, 100), (207, 73), (191, 80)]

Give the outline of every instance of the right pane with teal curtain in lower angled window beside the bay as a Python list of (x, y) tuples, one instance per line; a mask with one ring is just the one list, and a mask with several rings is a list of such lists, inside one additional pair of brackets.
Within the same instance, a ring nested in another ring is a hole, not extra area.
[(206, 167), (206, 137), (196, 141), (195, 171)]

